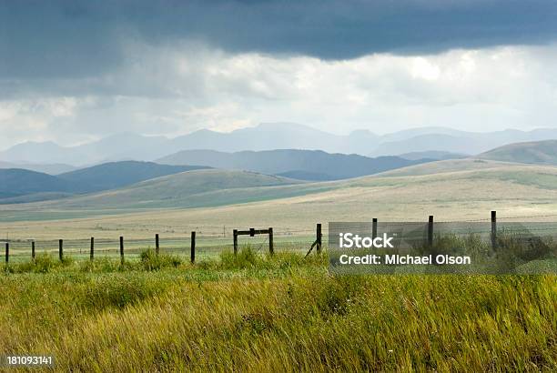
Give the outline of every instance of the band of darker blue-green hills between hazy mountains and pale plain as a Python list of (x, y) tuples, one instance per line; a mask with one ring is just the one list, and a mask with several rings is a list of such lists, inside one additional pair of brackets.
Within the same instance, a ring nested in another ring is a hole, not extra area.
[[(184, 150), (159, 159), (166, 164), (110, 162), (58, 176), (17, 168), (0, 169), (0, 204), (56, 199), (45, 202), (45, 206), (106, 209), (219, 206), (230, 201), (244, 203), (323, 192), (342, 183), (332, 180), (378, 173), (383, 177), (420, 176), (447, 172), (459, 165), (493, 170), (508, 166), (491, 160), (557, 166), (557, 140), (500, 146), (464, 160), (456, 159), (461, 155), (443, 152), (405, 156), (451, 160), (371, 158), (296, 149), (235, 153)], [(200, 163), (205, 165), (189, 166)], [(218, 169), (208, 169), (211, 167)]]

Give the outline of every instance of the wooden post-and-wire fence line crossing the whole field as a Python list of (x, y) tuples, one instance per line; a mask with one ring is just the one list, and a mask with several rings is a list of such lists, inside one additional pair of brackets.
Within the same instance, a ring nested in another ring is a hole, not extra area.
[[(498, 228), (498, 220), (511, 220), (517, 218), (535, 218), (535, 217), (557, 217), (557, 214), (545, 214), (537, 216), (514, 216), (514, 217), (497, 217), (495, 211), (491, 211), (491, 217), (485, 219), (473, 219), (473, 220), (460, 220), (460, 221), (434, 221), (433, 216), (430, 216), (428, 221), (409, 221), (404, 223), (391, 223), (391, 222), (381, 222), (377, 218), (373, 218), (370, 224), (365, 224), (362, 226), (350, 226), (352, 228), (368, 228), (371, 227), (372, 235), (377, 235), (378, 225), (389, 224), (390, 227), (407, 226), (409, 224), (416, 224), (418, 227), (423, 225), (424, 231), (427, 236), (428, 245), (433, 243), (434, 227), (441, 225), (447, 226), (455, 223), (486, 223), (485, 227), (481, 225), (481, 230), (471, 230), (470, 227), (462, 228), (452, 228), (451, 233), (456, 236), (473, 234), (490, 234), (491, 235), (491, 245), (496, 245), (496, 237), (498, 230), (504, 229), (507, 225), (512, 224), (502, 223)], [(488, 224), (491, 223), (491, 227)], [(547, 224), (552, 224), (547, 222)], [(125, 225), (120, 225), (125, 226)], [(172, 227), (167, 225), (160, 225), (161, 227)], [(183, 252), (187, 253), (189, 249), (189, 256), (192, 263), (196, 260), (196, 250), (202, 250), (202, 252), (218, 251), (223, 248), (232, 248), (234, 253), (238, 251), (238, 236), (248, 235), (250, 236), (250, 242), (259, 245), (259, 249), (268, 244), (268, 250), (272, 254), (275, 247), (298, 247), (299, 249), (307, 249), (309, 252), (313, 247), (317, 247), (317, 252), (319, 253), (323, 247), (322, 236), (325, 234), (327, 236), (328, 232), (323, 232), (325, 229), (321, 228), (318, 223), (315, 230), (309, 228), (289, 228), (289, 227), (279, 227), (279, 228), (264, 228), (264, 229), (254, 229), (250, 228), (248, 230), (232, 229), (229, 227), (229, 232), (227, 232), (227, 226), (197, 226), (193, 225), (183, 225), (180, 227), (224, 227), (223, 234), (203, 234), (203, 231), (191, 230), (189, 237), (168, 237), (167, 239), (160, 239), (159, 233), (157, 233), (153, 238), (135, 238), (126, 240), (126, 252), (135, 253), (139, 250), (145, 249), (147, 247), (155, 247), (156, 253), (158, 254), (161, 250), (167, 252)], [(103, 229), (104, 230), (104, 229)], [(116, 230), (116, 229), (115, 229)], [(557, 233), (556, 227), (528, 227), (529, 231), (532, 232), (549, 232), (554, 230)], [(230, 235), (228, 235), (231, 233)], [(254, 238), (257, 234), (264, 234), (266, 238), (261, 242), (260, 239)], [(298, 239), (296, 239), (298, 238)], [(313, 244), (311, 244), (313, 242)], [(117, 239), (107, 238), (107, 237), (90, 237), (90, 238), (78, 238), (78, 239), (45, 239), (45, 240), (35, 240), (35, 239), (10, 239), (5, 240), (5, 263), (9, 262), (10, 257), (23, 257), (30, 254), (32, 260), (35, 260), (36, 253), (39, 251), (43, 252), (56, 252), (56, 243), (58, 257), (60, 260), (64, 260), (66, 254), (76, 255), (87, 255), (90, 259), (94, 259), (97, 254), (111, 254), (119, 253), (120, 260), (124, 262), (125, 255), (125, 241), (124, 237), (119, 237), (119, 242)], [(187, 245), (188, 243), (188, 245)], [(30, 251), (28, 251), (30, 250)], [(309, 254), (309, 253), (308, 253)]]

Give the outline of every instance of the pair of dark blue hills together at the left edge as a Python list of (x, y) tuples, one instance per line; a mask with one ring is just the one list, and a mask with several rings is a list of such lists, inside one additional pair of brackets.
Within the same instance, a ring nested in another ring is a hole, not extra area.
[(39, 201), (115, 189), (159, 176), (205, 168), (208, 167), (125, 161), (87, 167), (58, 176), (19, 168), (0, 169), (0, 203)]

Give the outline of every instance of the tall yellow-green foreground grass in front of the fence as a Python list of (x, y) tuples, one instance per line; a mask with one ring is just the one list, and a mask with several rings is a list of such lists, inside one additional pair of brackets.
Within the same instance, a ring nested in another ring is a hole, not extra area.
[(0, 275), (0, 355), (59, 371), (555, 371), (554, 276), (332, 277), (243, 250)]

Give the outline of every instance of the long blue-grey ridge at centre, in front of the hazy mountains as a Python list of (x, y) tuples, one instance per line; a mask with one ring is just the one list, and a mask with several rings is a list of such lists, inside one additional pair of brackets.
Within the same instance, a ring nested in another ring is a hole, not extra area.
[(399, 156), (370, 158), (355, 154), (329, 154), (321, 150), (265, 150), (224, 153), (214, 150), (183, 150), (157, 160), (166, 165), (205, 165), (242, 169), (302, 180), (339, 180), (377, 174), (412, 166), (430, 159), (409, 160)]

